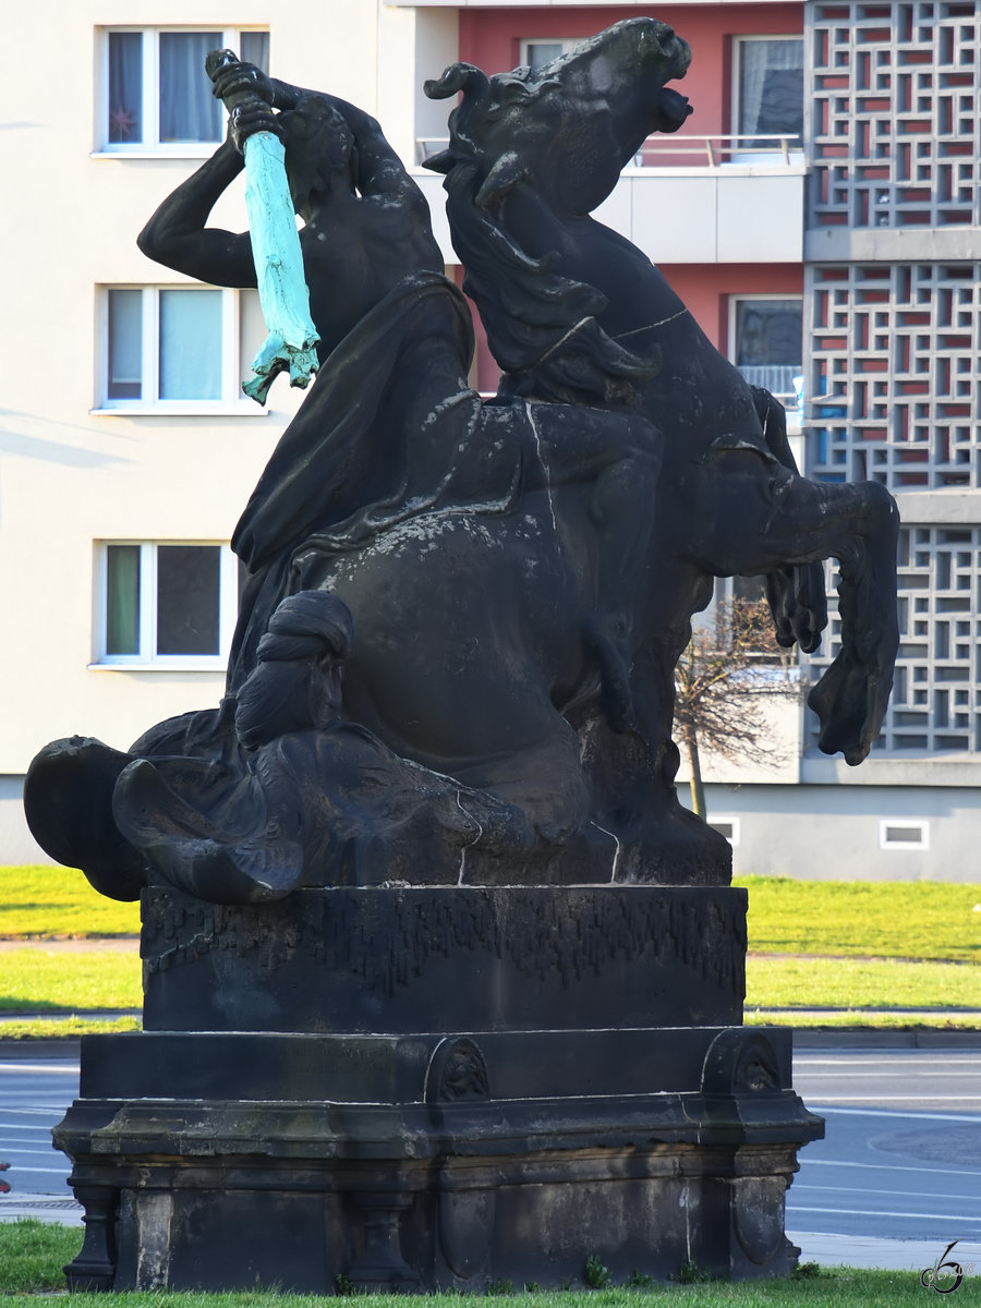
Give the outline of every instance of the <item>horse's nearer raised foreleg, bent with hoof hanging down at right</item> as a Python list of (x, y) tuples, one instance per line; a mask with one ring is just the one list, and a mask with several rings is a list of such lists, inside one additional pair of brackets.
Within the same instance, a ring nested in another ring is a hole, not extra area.
[(896, 502), (876, 481), (827, 485), (782, 467), (766, 473), (752, 455), (727, 455), (713, 471), (719, 509), (734, 494), (743, 508), (719, 511), (712, 557), (702, 560), (709, 572), (752, 574), (838, 560), (841, 651), (808, 704), (821, 722), (820, 749), (841, 751), (854, 766), (882, 729), (899, 649)]

